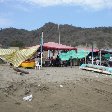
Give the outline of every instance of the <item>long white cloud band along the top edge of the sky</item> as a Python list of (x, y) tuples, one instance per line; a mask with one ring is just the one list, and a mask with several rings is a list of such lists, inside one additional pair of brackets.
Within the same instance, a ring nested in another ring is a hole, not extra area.
[(21, 0), (22, 2), (43, 7), (55, 5), (75, 5), (93, 9), (112, 8), (112, 0)]

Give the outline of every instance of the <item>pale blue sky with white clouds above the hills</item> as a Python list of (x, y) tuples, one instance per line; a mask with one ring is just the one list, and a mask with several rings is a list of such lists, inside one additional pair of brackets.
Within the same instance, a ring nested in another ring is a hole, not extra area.
[(35, 30), (48, 22), (112, 26), (112, 0), (0, 0), (0, 28)]

